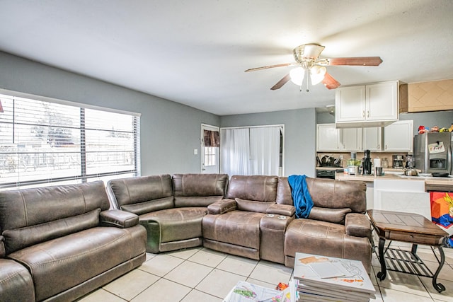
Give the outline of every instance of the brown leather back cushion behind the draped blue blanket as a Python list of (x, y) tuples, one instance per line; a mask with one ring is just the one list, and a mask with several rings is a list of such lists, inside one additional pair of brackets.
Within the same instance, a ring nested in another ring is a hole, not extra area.
[[(326, 178), (306, 178), (314, 207), (345, 209), (355, 213), (365, 213), (367, 208), (367, 185), (351, 180), (330, 180)], [(280, 178), (277, 203), (287, 204), (291, 197), (288, 178)], [(292, 200), (292, 199), (291, 199)]]

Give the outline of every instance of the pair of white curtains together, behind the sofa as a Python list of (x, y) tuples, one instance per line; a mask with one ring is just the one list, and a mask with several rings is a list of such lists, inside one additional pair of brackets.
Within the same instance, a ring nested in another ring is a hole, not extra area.
[(222, 129), (222, 173), (279, 175), (280, 127)]

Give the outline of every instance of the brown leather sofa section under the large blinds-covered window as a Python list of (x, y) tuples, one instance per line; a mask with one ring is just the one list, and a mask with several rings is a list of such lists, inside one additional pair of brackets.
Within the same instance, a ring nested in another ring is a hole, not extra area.
[[(136, 215), (109, 208), (102, 181), (0, 192), (1, 236), (10, 259), (0, 261), (0, 275), (6, 265), (16, 270), (12, 278), (22, 279), (2, 281), (0, 300), (72, 301), (141, 265), (145, 229)], [(10, 285), (17, 286), (12, 298)]]

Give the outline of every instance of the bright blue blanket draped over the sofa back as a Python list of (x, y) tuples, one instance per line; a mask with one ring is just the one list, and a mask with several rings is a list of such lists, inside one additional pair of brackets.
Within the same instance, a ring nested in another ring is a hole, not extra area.
[(311, 200), (305, 178), (305, 175), (289, 175), (288, 177), (297, 218), (308, 218), (313, 207), (313, 200)]

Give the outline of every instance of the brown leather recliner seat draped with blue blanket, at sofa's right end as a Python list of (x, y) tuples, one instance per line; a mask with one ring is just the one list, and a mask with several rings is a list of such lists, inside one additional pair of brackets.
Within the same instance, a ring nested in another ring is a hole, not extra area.
[[(362, 261), (371, 269), (371, 224), (365, 215), (365, 182), (306, 178), (314, 207), (308, 219), (294, 219), (285, 235), (285, 265), (296, 252)], [(277, 201), (292, 200), (287, 178), (278, 182)]]

